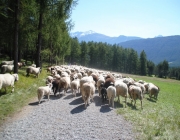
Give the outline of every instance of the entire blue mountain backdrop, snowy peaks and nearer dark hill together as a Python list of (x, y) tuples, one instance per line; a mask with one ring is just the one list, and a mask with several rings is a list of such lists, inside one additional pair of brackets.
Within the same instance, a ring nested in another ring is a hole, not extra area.
[(147, 59), (155, 64), (167, 60), (170, 66), (180, 67), (180, 35), (166, 36), (158, 35), (154, 38), (140, 38), (133, 36), (109, 37), (94, 31), (71, 33), (81, 41), (106, 42), (118, 44), (124, 48), (133, 48), (140, 54), (143, 50)]

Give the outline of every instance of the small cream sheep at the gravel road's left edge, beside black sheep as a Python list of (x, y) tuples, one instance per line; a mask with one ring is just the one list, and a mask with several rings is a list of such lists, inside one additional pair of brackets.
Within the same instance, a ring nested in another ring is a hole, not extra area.
[(52, 93), (52, 83), (47, 84), (46, 86), (41, 86), (37, 89), (37, 95), (38, 95), (38, 102), (41, 103), (41, 100), (44, 95), (48, 96), (49, 101), (49, 95)]

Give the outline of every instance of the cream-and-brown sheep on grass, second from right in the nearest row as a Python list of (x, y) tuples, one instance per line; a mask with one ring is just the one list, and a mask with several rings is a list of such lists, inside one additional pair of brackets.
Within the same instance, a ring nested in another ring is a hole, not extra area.
[(131, 98), (131, 104), (134, 100), (134, 106), (136, 104), (136, 99), (140, 99), (141, 101), (141, 109), (142, 109), (142, 99), (143, 99), (143, 95), (142, 95), (142, 89), (141, 87), (137, 86), (137, 85), (134, 85), (134, 84), (131, 84), (129, 83), (128, 84), (128, 92), (129, 92), (129, 95), (130, 95), (130, 98)]

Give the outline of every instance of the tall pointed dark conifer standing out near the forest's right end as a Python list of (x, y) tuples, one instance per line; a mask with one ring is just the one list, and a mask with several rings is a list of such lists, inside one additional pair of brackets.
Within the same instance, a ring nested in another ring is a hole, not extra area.
[(147, 59), (144, 50), (140, 54), (140, 74), (141, 75), (147, 74)]

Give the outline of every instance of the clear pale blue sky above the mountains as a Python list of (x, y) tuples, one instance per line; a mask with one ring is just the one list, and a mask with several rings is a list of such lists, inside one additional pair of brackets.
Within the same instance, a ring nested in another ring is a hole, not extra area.
[(71, 20), (71, 32), (142, 38), (180, 35), (180, 0), (78, 0)]

